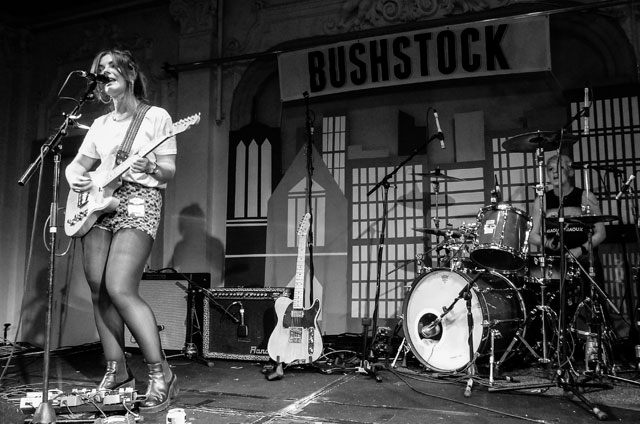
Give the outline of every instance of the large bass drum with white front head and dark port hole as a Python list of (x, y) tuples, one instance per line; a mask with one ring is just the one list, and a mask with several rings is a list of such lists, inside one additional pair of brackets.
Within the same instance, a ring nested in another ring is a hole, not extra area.
[(498, 355), (506, 351), (516, 331), (523, 328), (524, 302), (518, 289), (504, 276), (493, 271), (463, 274), (449, 269), (434, 269), (414, 281), (403, 306), (405, 339), (413, 354), (430, 369), (460, 371), (471, 363), (464, 298), (460, 298), (442, 320), (437, 321), (444, 308), (451, 307), (454, 300), (464, 293), (469, 282), (473, 282), (474, 356), (476, 353), (480, 356), (491, 353), (491, 331), (495, 330), (494, 356), (500, 359)]

